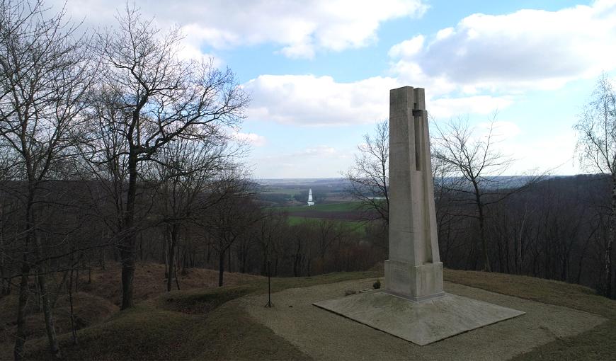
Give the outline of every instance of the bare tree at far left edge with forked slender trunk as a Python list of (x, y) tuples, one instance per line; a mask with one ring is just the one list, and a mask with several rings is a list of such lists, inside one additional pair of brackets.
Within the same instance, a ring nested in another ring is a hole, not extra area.
[(45, 279), (37, 207), (43, 183), (57, 178), (74, 146), (69, 136), (79, 121), (91, 84), (87, 43), (64, 11), (50, 13), (42, 2), (0, 2), (0, 136), (14, 157), (21, 193), (23, 256), (14, 355), (23, 354), (28, 278), (34, 268), (53, 355), (59, 356)]

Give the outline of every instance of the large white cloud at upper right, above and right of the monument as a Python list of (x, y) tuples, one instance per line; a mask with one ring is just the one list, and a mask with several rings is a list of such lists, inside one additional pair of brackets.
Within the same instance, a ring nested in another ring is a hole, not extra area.
[(392, 71), (402, 79), (440, 79), (444, 93), (554, 89), (616, 68), (616, 1), (559, 11), (476, 13), (412, 52), (394, 45)]

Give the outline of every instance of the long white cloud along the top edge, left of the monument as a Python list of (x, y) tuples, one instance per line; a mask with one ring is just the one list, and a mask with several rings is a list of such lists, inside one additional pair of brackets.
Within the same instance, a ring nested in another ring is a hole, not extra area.
[[(52, 0), (56, 8), (64, 1)], [(421, 0), (184, 0), (136, 1), (146, 17), (178, 23), (190, 44), (216, 49), (273, 43), (287, 57), (314, 57), (318, 50), (341, 51), (377, 40), (379, 25), (394, 18), (422, 16)], [(122, 0), (68, 1), (73, 18), (113, 23)], [(96, 14), (94, 16), (93, 14)]]

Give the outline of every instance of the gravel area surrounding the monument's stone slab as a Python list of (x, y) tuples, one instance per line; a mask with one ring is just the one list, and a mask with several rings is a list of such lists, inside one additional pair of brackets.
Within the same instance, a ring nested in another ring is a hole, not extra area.
[(523, 316), (418, 346), (313, 306), (313, 302), (363, 290), (373, 279), (295, 288), (236, 300), (278, 336), (315, 360), (508, 360), (556, 338), (587, 331), (603, 317), (445, 282), (445, 291), (525, 311)]

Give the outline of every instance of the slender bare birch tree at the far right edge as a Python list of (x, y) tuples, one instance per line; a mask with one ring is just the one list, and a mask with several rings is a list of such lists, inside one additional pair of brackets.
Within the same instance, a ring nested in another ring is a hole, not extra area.
[(581, 165), (589, 171), (610, 176), (612, 202), (605, 242), (603, 293), (612, 295), (612, 248), (616, 231), (616, 92), (607, 74), (600, 76), (591, 101), (586, 104), (574, 129)]

